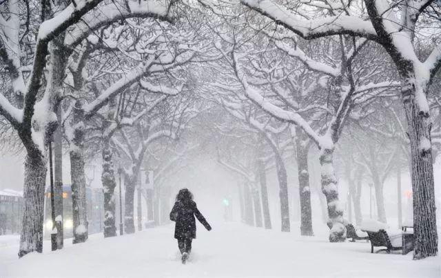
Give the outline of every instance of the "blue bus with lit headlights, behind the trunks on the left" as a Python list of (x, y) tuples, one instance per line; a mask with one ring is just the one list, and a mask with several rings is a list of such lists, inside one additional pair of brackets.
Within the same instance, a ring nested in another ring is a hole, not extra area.
[[(88, 212), (88, 233), (94, 234), (102, 232), (104, 225), (104, 195), (100, 188), (85, 188), (85, 197)], [(45, 192), (45, 221), (44, 234), (50, 237), (52, 230), (52, 210), (50, 206), (50, 188)], [(65, 238), (73, 237), (72, 228), (74, 222), (72, 220), (72, 188), (70, 184), (63, 185), (63, 234)]]

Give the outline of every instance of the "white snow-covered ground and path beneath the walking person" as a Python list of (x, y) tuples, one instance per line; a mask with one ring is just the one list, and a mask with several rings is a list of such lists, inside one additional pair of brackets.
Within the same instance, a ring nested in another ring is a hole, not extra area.
[[(198, 228), (192, 258), (182, 265), (173, 226), (163, 226), (17, 259), (17, 245), (0, 246), (0, 277), (441, 277), (440, 258), (371, 254), (365, 242), (330, 244), (325, 234), (219, 224)], [(51, 271), (54, 270), (54, 272)]]

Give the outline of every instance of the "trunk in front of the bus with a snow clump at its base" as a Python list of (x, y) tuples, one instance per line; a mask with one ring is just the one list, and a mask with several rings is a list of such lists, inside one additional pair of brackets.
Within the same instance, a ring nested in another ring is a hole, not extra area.
[(72, 182), (73, 243), (88, 239), (88, 212), (84, 174), (84, 114), (81, 103), (75, 103), (72, 119), (73, 138), (70, 141), (70, 179)]

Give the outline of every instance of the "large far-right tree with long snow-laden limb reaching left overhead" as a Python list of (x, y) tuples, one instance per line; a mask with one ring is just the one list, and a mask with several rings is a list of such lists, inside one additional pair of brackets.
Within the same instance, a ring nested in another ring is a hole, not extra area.
[[(360, 5), (351, 1), (311, 1), (305, 5), (315, 8), (320, 18), (303, 19), (291, 12), (289, 7), (271, 0), (241, 0), (241, 3), (305, 39), (350, 34), (376, 41), (389, 54), (401, 79), (402, 103), (411, 146), (413, 224), (416, 235), (413, 258), (437, 255), (438, 234), (427, 92), (441, 66), (441, 51), (439, 44), (431, 43), (433, 47), (430, 54), (418, 57), (416, 37), (425, 24), (435, 24), (433, 15), (439, 13), (440, 4), (431, 0), (365, 0), (365, 5), (361, 5), (360, 9)], [(300, 1), (296, 4), (302, 6)], [(297, 8), (297, 12), (302, 14), (306, 11)]]

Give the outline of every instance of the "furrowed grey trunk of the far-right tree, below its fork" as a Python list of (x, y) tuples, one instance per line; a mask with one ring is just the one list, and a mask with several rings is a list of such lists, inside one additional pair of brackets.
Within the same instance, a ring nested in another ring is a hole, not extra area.
[[(416, 237), (413, 259), (438, 254), (435, 215), (435, 186), (431, 152), (429, 115), (420, 113), (416, 103), (416, 80), (413, 72), (402, 81), (402, 102), (408, 123), (411, 147), (411, 179), (413, 191), (413, 230)], [(425, 92), (427, 95), (427, 92)]]

